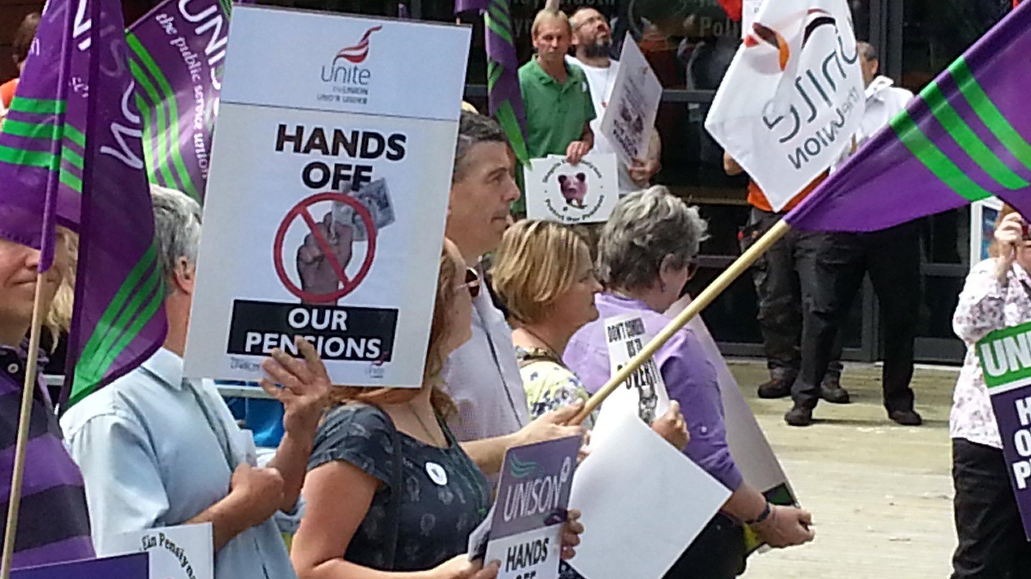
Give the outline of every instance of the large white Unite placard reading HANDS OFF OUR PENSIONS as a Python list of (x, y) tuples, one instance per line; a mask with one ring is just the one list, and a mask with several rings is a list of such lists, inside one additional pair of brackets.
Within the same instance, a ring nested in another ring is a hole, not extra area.
[(230, 35), (186, 374), (299, 336), (335, 384), (419, 386), (469, 29), (237, 5)]

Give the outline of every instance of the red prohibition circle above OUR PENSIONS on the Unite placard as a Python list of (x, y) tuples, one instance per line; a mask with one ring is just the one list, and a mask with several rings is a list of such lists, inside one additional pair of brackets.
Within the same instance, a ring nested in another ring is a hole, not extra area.
[[(355, 210), (355, 213), (361, 217), (362, 223), (365, 224), (365, 231), (368, 234), (368, 248), (365, 251), (365, 260), (362, 262), (362, 267), (358, 270), (358, 273), (355, 274), (354, 279), (347, 278), (347, 274), (343, 271), (343, 265), (340, 264), (333, 254), (329, 240), (319, 232), (318, 225), (315, 224), (314, 218), (311, 217), (311, 213), (308, 211), (309, 207), (323, 201), (335, 201), (350, 205)], [(298, 287), (287, 274), (287, 268), (282, 254), (282, 243), (287, 237), (287, 231), (290, 230), (290, 226), (293, 225), (294, 219), (297, 217), (300, 217), (305, 223), (308, 230), (311, 232), (311, 235), (314, 236), (315, 241), (319, 243), (319, 247), (323, 250), (323, 254), (329, 261), (330, 266), (332, 266), (337, 278), (342, 283), (341, 287), (336, 292), (332, 292), (330, 294), (311, 294), (309, 292), (305, 292), (301, 287)], [(369, 273), (375, 252), (376, 228), (375, 224), (372, 222), (372, 215), (360, 201), (342, 193), (318, 193), (295, 205), (290, 209), (290, 211), (287, 212), (287, 216), (284, 217), (282, 223), (279, 224), (279, 229), (275, 232), (275, 240), (272, 243), (272, 261), (275, 265), (275, 273), (279, 277), (279, 281), (287, 286), (287, 290), (291, 294), (300, 298), (301, 301), (311, 304), (335, 304), (337, 300), (354, 292)]]

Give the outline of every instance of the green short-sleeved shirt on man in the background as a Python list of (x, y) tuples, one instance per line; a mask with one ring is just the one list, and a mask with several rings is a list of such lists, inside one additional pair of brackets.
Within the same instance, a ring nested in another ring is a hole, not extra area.
[(519, 86), (526, 105), (530, 157), (565, 155), (569, 143), (580, 138), (584, 127), (595, 116), (584, 70), (566, 64), (566, 81), (560, 83), (533, 58), (519, 69)]

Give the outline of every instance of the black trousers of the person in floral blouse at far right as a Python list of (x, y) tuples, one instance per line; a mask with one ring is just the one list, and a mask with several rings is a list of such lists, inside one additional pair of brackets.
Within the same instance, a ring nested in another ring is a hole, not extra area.
[(953, 440), (956, 534), (952, 579), (1031, 577), (1024, 535), (1002, 450)]

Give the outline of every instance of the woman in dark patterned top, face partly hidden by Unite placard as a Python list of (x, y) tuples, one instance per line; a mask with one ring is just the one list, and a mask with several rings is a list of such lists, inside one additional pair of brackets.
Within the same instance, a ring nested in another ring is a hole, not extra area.
[[(478, 290), (475, 271), (445, 241), (422, 387), (331, 386), (338, 406), (315, 437), (305, 515), (291, 553), (300, 579), (497, 575), (496, 563), (474, 565), (464, 553), (491, 506), (485, 472), (496, 472), (505, 448), (521, 439), (460, 445), (444, 422), (453, 404), (440, 378), (447, 355), (470, 337)], [(328, 381), (321, 364), (309, 368), (298, 360), (289, 370), (300, 380)], [(572, 556), (583, 531), (577, 517), (570, 512), (564, 558)]]

